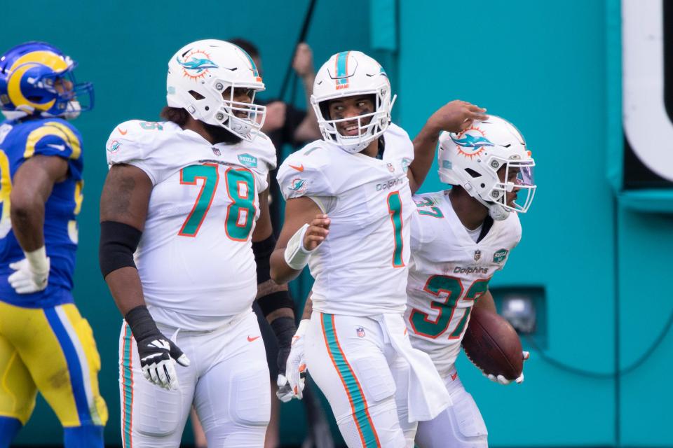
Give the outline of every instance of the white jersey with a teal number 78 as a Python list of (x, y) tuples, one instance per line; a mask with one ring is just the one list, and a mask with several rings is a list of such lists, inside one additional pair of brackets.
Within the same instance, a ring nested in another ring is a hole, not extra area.
[(130, 120), (112, 132), (107, 162), (139, 167), (154, 186), (135, 263), (156, 321), (207, 330), (250, 309), (257, 195), (276, 167), (271, 140), (212, 145), (175, 123)]

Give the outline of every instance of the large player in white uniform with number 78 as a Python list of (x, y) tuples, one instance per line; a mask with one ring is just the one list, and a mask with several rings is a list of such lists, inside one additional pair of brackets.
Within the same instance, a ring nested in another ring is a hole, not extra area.
[(166, 121), (126, 121), (107, 142), (100, 264), (124, 316), (123, 446), (178, 447), (193, 403), (209, 446), (262, 447), (256, 295), (283, 367), (295, 330), (287, 286), (268, 274), (276, 151), (253, 102), (264, 83), (245, 51), (204, 40), (170, 59), (167, 87)]

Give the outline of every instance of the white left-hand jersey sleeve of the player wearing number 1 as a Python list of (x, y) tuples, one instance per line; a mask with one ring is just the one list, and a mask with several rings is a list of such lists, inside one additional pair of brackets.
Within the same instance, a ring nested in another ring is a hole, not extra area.
[(325, 152), (324, 148), (309, 145), (285, 159), (278, 169), (278, 185), (285, 200), (336, 196), (325, 175), (329, 160), (320, 158), (319, 153)]

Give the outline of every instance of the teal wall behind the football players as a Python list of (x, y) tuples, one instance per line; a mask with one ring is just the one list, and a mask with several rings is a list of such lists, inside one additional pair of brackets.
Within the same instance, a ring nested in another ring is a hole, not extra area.
[[(80, 218), (76, 300), (102, 356), (101, 390), (110, 409), (107, 442), (119, 443), (119, 316), (97, 267), (98, 197), (107, 171), (104, 141), (116, 123), (155, 119), (164, 104), (165, 66), (186, 42), (245, 36), (264, 59), (266, 97), (280, 88), (308, 0), (200, 3), (175, 0), (88, 2), (65, 7), (34, 1), (3, 11), (3, 48), (46, 40), (80, 62), (95, 83), (95, 111), (78, 120), (85, 139), (86, 187)], [(673, 445), (669, 334), (636, 369), (672, 311), (665, 269), (673, 253), (673, 216), (644, 214), (616, 200), (609, 154), (620, 151), (619, 1), (535, 0), (478, 3), (430, 0), (319, 0), (307, 41), (316, 68), (339, 50), (374, 52), (393, 77), (398, 123), (412, 136), (449, 99), (486, 106), (516, 123), (538, 162), (538, 193), (522, 217), (524, 237), (493, 286), (544, 286), (545, 353), (598, 374), (560, 370), (533, 352), (521, 386), (484, 380), (464, 358), (494, 447)], [(381, 20), (379, 20), (379, 18)], [(377, 23), (397, 21), (381, 36)], [(370, 29), (370, 23), (373, 24)], [(372, 34), (370, 35), (370, 31)], [(302, 103), (301, 90), (298, 91)], [(613, 165), (614, 167), (614, 165)], [(430, 174), (423, 190), (442, 188)], [(660, 273), (663, 274), (661, 280)], [(301, 289), (301, 288), (300, 288)], [(616, 334), (618, 339), (616, 339)], [(607, 374), (602, 375), (601, 374)], [(297, 444), (304, 426), (297, 402), (283, 407), (283, 440)], [(189, 435), (186, 436), (189, 439)], [(18, 444), (58, 443), (60, 427), (41, 401)]]

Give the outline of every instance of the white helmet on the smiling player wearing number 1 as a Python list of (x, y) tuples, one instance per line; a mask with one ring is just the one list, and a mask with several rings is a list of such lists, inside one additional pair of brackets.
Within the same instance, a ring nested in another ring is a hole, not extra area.
[[(355, 118), (330, 119), (327, 102), (330, 99), (361, 94), (374, 95), (374, 112), (355, 117), (360, 131), (358, 135), (348, 137), (339, 134), (337, 123)], [(391, 100), (390, 80), (381, 64), (363, 52), (343, 51), (332, 55), (318, 70), (313, 83), (311, 104), (318, 118), (322, 137), (338, 144), (348, 153), (358, 153), (388, 129), (395, 97)], [(372, 118), (371, 121), (365, 124), (369, 117)]]

